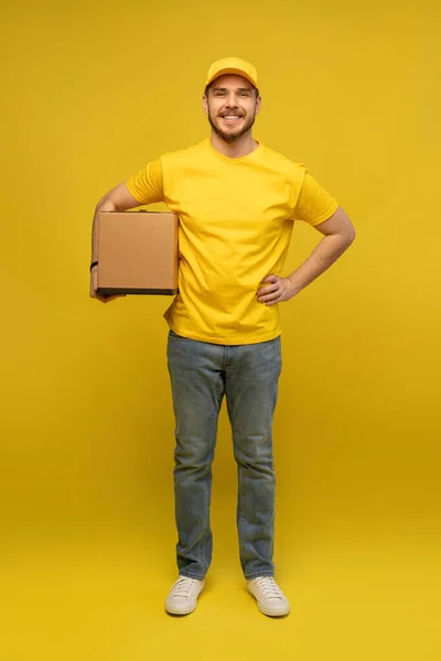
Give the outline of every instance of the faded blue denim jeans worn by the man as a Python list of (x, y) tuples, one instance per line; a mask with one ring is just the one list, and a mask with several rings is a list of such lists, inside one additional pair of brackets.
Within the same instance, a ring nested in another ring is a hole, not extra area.
[(246, 578), (272, 576), (276, 476), (272, 418), (280, 337), (224, 346), (175, 335), (168, 342), (175, 415), (174, 498), (179, 573), (204, 578), (212, 562), (212, 463), (226, 395), (238, 470), (237, 530)]

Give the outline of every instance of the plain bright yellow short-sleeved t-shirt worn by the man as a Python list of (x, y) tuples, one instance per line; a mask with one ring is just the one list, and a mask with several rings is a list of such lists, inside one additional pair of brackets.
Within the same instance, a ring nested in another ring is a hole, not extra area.
[(278, 304), (258, 303), (257, 290), (282, 275), (294, 219), (319, 225), (338, 207), (304, 165), (261, 143), (230, 159), (207, 138), (150, 162), (127, 187), (179, 215), (179, 294), (164, 314), (174, 333), (225, 345), (280, 335)]

